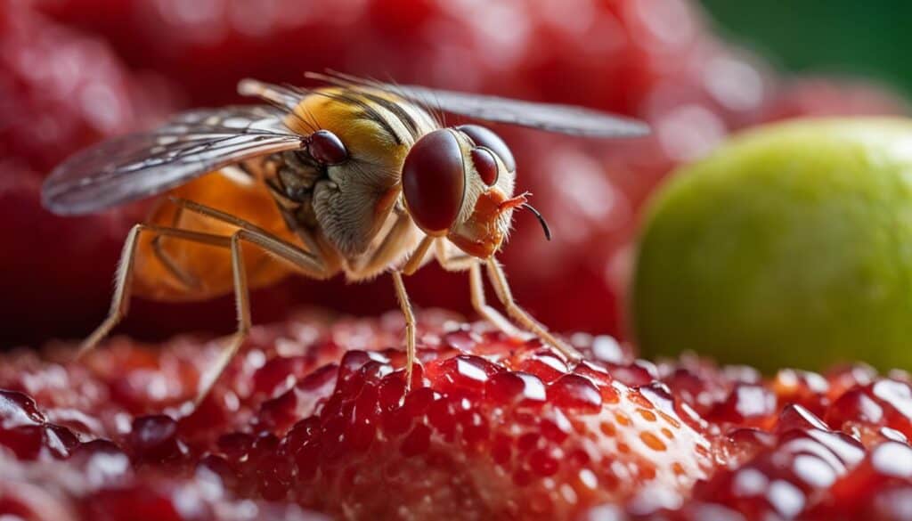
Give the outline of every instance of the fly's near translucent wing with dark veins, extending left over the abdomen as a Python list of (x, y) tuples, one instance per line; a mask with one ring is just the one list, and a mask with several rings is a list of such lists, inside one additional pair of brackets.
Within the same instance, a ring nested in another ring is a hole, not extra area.
[(285, 112), (236, 106), (185, 112), (163, 126), (80, 151), (51, 172), (42, 200), (55, 214), (89, 214), (251, 157), (299, 149)]

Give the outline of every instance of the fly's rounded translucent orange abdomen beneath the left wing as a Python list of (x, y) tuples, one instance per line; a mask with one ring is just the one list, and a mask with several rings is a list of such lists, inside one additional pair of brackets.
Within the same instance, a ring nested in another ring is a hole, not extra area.
[[(189, 199), (256, 224), (292, 244), (300, 241), (285, 225), (268, 188), (253, 179), (237, 180), (223, 172), (208, 173), (171, 190), (150, 214), (148, 224), (230, 236), (237, 227), (194, 214), (168, 200), (168, 195)], [(228, 248), (203, 245), (178, 237), (161, 237), (159, 252), (153, 248), (154, 234), (140, 235), (134, 265), (134, 292), (156, 300), (203, 300), (233, 291), (231, 252)], [(251, 288), (275, 283), (290, 273), (289, 266), (244, 244), (244, 267)], [(162, 260), (171, 260), (184, 277), (177, 276)]]

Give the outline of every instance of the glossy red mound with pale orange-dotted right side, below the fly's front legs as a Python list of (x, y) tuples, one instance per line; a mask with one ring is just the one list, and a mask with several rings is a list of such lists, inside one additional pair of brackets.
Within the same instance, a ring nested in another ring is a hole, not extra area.
[[(611, 384), (565, 372), (545, 386), (540, 377), (510, 370), (513, 362), (508, 360), (529, 360), (524, 351), (532, 349), (521, 346), (503, 353), (510, 358), (500, 364), (490, 361), (490, 352), (488, 359), (463, 354), (426, 360), (420, 388), (410, 390), (398, 408), (380, 409), (374, 412), (377, 420), (366, 419), (367, 424), (404, 427), (375, 434), (370, 443), (356, 442), (358, 401), (373, 389), (372, 378), (356, 372), (340, 379), (316, 416), (322, 427), (304, 437), (294, 431), (300, 450), (314, 444), (325, 448), (299, 461), (306, 475), (313, 474), (316, 464), (322, 476), (310, 485), (316, 490), (298, 489), (299, 501), (330, 510), (341, 507), (358, 517), (388, 516), (394, 504), (416, 516), (563, 517), (598, 498), (635, 496), (639, 487), (663, 483), (673, 490), (684, 479), (675, 468), (690, 469), (688, 475), (703, 472), (705, 442), (673, 412), (659, 412), (620, 383), (613, 385), (614, 401), (607, 402), (599, 388)], [(349, 353), (346, 359), (367, 358)], [(556, 370), (553, 364), (547, 367)], [(381, 384), (395, 374), (383, 377)], [(604, 444), (612, 455), (606, 458), (602, 449), (580, 443), (587, 438)], [(612, 463), (618, 461), (626, 462), (629, 471), (624, 472), (632, 474), (617, 474), (617, 463)], [(352, 482), (347, 476), (355, 468), (358, 480)], [(556, 493), (545, 479), (565, 492)], [(385, 485), (377, 495), (381, 482)], [(432, 505), (420, 500), (428, 494), (420, 490), (437, 491)], [(489, 495), (495, 490), (496, 495)], [(390, 497), (396, 499), (390, 503)]]

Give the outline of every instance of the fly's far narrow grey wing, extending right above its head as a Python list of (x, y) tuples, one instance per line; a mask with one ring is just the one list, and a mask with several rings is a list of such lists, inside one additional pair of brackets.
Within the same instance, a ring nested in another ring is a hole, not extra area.
[(572, 105), (535, 103), (416, 85), (394, 85), (340, 73), (308, 74), (308, 77), (343, 87), (385, 90), (424, 106), (479, 120), (561, 134), (592, 138), (634, 138), (649, 133), (648, 126), (643, 122)]

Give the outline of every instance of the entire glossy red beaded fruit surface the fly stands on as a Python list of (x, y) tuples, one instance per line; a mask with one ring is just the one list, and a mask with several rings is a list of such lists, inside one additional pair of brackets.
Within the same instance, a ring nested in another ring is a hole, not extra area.
[(585, 334), (569, 338), (574, 366), (449, 312), (419, 322), (408, 386), (398, 315), (306, 311), (254, 328), (195, 410), (220, 339), (121, 337), (78, 363), (59, 342), (6, 354), (0, 511), (894, 519), (912, 490), (905, 373), (762, 378)]

